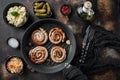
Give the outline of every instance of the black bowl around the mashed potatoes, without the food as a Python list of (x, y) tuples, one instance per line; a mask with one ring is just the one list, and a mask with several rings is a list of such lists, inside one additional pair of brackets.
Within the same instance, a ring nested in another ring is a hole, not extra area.
[[(25, 6), (24, 6), (23, 4), (21, 4), (21, 3), (10, 3), (10, 4), (8, 4), (8, 5), (5, 7), (4, 11), (3, 11), (3, 19), (4, 19), (4, 21), (5, 21), (6, 24), (8, 24), (8, 25), (10, 25), (10, 26), (13, 26), (13, 27), (16, 27), (15, 25), (10, 24), (9, 21), (7, 20), (7, 18), (6, 18), (8, 10), (9, 10), (11, 7), (14, 7), (14, 6), (23, 6), (23, 7), (25, 7)], [(29, 18), (29, 12), (27, 11), (27, 8), (26, 8), (26, 7), (25, 7), (25, 10), (26, 10), (26, 22), (25, 22), (25, 23), (27, 23), (28, 18)], [(24, 26), (25, 23), (23, 23), (22, 25), (20, 25), (20, 26), (18, 26), (18, 27)]]

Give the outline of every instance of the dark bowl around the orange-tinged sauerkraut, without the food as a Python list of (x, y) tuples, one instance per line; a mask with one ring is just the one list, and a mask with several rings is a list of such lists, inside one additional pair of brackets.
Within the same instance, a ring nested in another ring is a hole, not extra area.
[[(20, 59), (20, 60), (22, 61), (22, 63), (23, 63), (23, 68), (20, 70), (20, 72), (17, 72), (17, 73), (13, 72), (13, 73), (12, 73), (12, 72), (7, 68), (8, 62), (9, 62), (11, 59), (13, 59), (13, 58), (17, 58), (17, 59)], [(18, 56), (9, 56), (9, 57), (7, 58), (7, 60), (6, 60), (5, 68), (6, 68), (6, 70), (7, 70), (9, 73), (11, 73), (11, 74), (19, 74), (19, 75), (21, 75), (21, 74), (24, 73), (25, 63), (24, 63), (23, 59), (20, 58), (20, 57), (18, 57)]]

